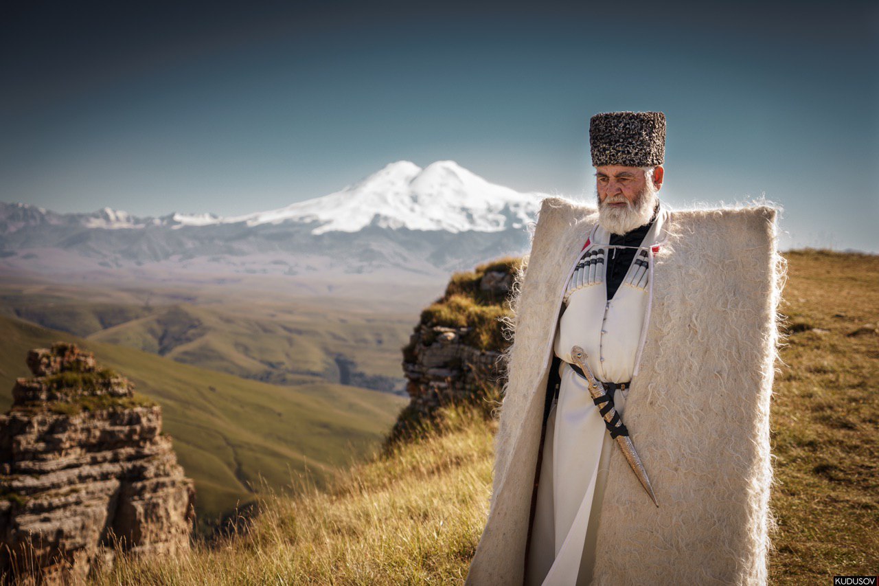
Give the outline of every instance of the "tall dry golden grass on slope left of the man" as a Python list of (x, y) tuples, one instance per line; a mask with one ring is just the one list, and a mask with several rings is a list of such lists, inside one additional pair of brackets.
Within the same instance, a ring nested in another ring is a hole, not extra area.
[(353, 467), (329, 489), (269, 497), (245, 531), (173, 559), (121, 558), (99, 584), (463, 582), (485, 524), (493, 421), (444, 411), (439, 429)]

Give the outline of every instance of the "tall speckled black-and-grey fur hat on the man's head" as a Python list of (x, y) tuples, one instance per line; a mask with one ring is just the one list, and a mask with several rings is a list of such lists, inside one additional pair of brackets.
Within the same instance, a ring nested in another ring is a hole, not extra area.
[(652, 167), (665, 161), (665, 114), (607, 112), (589, 121), (592, 166)]

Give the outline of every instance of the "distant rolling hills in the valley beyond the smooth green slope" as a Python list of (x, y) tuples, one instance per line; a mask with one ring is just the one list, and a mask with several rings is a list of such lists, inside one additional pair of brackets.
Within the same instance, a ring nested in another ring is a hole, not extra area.
[[(146, 285), (139, 287), (145, 288)], [(402, 388), (397, 350), (418, 309), (273, 289), (177, 283), (65, 284), (9, 278), (0, 314), (95, 341), (277, 385)]]

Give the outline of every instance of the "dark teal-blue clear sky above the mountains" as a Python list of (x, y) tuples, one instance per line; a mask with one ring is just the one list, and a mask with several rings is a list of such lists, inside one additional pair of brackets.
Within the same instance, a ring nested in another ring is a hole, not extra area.
[(589, 117), (661, 110), (674, 206), (879, 252), (875, 2), (120, 4), (0, 8), (0, 200), (242, 214), (400, 159), (591, 198)]

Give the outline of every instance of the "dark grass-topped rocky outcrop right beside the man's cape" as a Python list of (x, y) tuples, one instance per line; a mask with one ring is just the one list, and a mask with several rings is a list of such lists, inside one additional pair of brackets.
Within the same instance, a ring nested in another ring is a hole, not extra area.
[(519, 259), (503, 259), (456, 273), (443, 297), (421, 313), (403, 348), (403, 372), (411, 401), (389, 443), (431, 421), (448, 403), (475, 403), (490, 413), (504, 385), (504, 320)]

